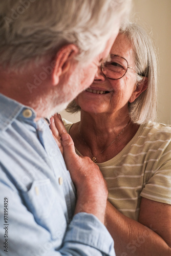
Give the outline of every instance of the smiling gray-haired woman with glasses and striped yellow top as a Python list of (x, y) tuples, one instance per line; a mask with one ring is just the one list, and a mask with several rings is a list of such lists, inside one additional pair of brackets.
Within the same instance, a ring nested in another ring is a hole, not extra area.
[(77, 154), (96, 162), (108, 184), (106, 227), (119, 256), (171, 255), (171, 127), (154, 122), (156, 70), (151, 39), (128, 24), (111, 60), (68, 106), (80, 122), (64, 120)]

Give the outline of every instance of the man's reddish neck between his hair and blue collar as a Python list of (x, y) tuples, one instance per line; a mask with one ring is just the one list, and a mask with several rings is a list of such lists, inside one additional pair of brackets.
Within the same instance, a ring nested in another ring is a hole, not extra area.
[[(38, 86), (37, 80), (35, 81), (36, 72), (36, 70), (34, 72), (27, 70), (27, 73), (17, 74), (0, 69), (0, 93), (33, 108), (39, 119), (44, 117), (44, 97), (48, 96), (48, 79)], [(32, 91), (30, 91), (31, 86)]]

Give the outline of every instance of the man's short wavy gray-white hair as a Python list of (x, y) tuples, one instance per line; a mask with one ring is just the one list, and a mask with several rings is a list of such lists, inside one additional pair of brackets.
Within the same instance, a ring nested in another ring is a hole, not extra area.
[(91, 61), (105, 48), (112, 25), (129, 14), (131, 1), (2, 0), (0, 66), (18, 69), (30, 59), (39, 63), (67, 44), (78, 47), (77, 61)]

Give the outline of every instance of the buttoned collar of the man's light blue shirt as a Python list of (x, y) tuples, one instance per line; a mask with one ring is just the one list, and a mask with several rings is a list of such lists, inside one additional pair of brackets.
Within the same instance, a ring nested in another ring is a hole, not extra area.
[(18, 115), (27, 120), (34, 120), (36, 117), (35, 111), (29, 106), (0, 94), (0, 130), (6, 130)]

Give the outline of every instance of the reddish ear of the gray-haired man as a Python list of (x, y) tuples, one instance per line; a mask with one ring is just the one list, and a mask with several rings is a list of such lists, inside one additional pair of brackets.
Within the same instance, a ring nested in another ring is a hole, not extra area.
[(56, 86), (59, 83), (60, 76), (67, 72), (70, 65), (71, 60), (78, 53), (78, 48), (73, 45), (66, 45), (61, 47), (53, 60), (53, 72), (52, 72), (52, 84)]

